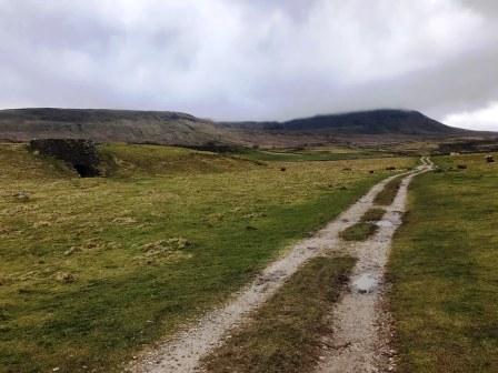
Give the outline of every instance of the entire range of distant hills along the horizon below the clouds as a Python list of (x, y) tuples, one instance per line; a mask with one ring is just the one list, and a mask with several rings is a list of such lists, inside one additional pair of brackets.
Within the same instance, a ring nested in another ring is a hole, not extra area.
[[(0, 140), (71, 138), (97, 142), (262, 144), (295, 147), (343, 141), (389, 142), (417, 138), (479, 135), (420, 112), (374, 110), (317, 115), (285, 122), (213, 122), (169, 111), (100, 109), (0, 110)], [(372, 140), (372, 141), (374, 141)]]

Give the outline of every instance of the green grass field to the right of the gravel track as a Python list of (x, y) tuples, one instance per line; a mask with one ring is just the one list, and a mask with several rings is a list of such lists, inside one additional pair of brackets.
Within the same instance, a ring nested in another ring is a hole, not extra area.
[(414, 180), (389, 264), (399, 371), (498, 372), (498, 165), (434, 161), (441, 172)]

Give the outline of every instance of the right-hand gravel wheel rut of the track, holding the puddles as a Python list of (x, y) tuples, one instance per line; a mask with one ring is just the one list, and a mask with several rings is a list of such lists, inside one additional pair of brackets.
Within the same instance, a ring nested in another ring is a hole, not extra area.
[(385, 306), (382, 282), (392, 235), (401, 224), (408, 185), (417, 174), (430, 171), (432, 163), (421, 159), (416, 172), (401, 182), (399, 192), (378, 223), (379, 231), (360, 243), (342, 242), (331, 251), (349, 253), (358, 259), (348, 290), (329, 315), (330, 336), (323, 339), (323, 355), (318, 373), (370, 373), (396, 370), (396, 351), (390, 314)]

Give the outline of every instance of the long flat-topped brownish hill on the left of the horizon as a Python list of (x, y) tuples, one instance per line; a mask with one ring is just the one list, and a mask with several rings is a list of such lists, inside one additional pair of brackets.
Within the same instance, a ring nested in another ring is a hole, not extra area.
[(231, 142), (208, 120), (168, 111), (17, 109), (0, 111), (0, 139), (86, 138), (98, 142), (197, 145)]

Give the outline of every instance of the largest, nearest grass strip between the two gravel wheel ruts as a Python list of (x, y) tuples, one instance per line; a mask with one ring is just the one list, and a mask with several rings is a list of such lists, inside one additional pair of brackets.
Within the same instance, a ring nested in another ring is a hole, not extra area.
[(326, 315), (355, 264), (352, 258), (315, 258), (255, 312), (251, 321), (205, 365), (211, 373), (312, 372)]

